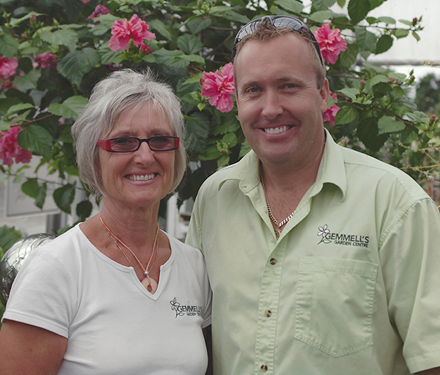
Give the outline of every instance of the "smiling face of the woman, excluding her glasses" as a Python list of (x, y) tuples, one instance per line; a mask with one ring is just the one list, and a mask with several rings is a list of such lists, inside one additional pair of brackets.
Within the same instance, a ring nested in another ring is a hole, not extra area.
[[(174, 135), (166, 115), (147, 102), (133, 111), (123, 112), (110, 134), (101, 140), (117, 137), (141, 139), (159, 135)], [(174, 178), (176, 151), (151, 151), (142, 142), (137, 151), (127, 153), (107, 152), (99, 148), (99, 163), (104, 200), (111, 200), (122, 208), (151, 207), (159, 205), (171, 187)]]

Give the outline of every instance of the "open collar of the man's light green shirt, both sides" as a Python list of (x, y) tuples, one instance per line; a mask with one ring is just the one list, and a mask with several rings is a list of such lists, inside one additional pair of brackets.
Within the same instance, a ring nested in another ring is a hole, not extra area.
[[(326, 142), (324, 153), (316, 176), (316, 182), (311, 187), (312, 196), (318, 194), (324, 184), (336, 185), (342, 193), (342, 200), (347, 192), (347, 175), (341, 146), (337, 145), (330, 133), (325, 129)], [(244, 194), (254, 189), (260, 183), (259, 159), (254, 151), (249, 151), (237, 164), (227, 167), (229, 173), (220, 180), (218, 190), (228, 180), (240, 181), (239, 187)]]

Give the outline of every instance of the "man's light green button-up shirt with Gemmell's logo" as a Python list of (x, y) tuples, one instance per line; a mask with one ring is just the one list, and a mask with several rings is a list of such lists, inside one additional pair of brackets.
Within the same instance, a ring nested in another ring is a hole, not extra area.
[(209, 178), (187, 243), (213, 289), (216, 375), (409, 374), (440, 366), (440, 218), (405, 173), (327, 134), (276, 239), (258, 158)]

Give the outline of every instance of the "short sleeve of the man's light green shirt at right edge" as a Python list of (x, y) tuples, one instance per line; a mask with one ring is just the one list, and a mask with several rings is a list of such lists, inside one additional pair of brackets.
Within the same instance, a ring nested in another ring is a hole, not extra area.
[(440, 366), (440, 215), (430, 199), (396, 221), (380, 249), (391, 323), (411, 373)]

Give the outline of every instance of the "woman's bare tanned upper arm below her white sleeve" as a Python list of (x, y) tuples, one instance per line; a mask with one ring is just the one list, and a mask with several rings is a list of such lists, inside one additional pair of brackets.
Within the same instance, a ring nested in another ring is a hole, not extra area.
[(0, 374), (56, 375), (67, 339), (42, 328), (4, 320), (0, 331)]

